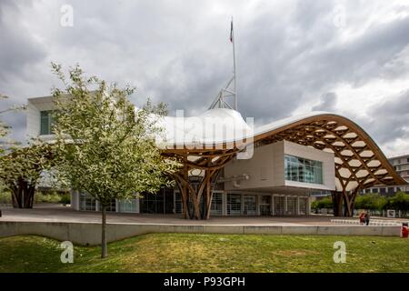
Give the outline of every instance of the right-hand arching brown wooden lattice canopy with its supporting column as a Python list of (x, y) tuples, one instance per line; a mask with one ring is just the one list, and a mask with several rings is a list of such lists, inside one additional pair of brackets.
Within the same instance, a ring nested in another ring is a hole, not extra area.
[(335, 215), (342, 215), (343, 200), (344, 216), (352, 216), (354, 198), (364, 188), (406, 184), (364, 129), (343, 116), (313, 115), (254, 136), (261, 145), (281, 140), (334, 153)]

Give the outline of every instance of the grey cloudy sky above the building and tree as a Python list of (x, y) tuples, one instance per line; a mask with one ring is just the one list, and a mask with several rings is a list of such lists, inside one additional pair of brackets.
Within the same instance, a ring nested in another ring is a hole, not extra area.
[[(232, 16), (244, 117), (261, 125), (330, 111), (386, 155), (409, 152), (407, 0), (1, 0), (1, 108), (61, 86), (53, 61), (135, 85), (136, 105), (150, 97), (171, 115), (201, 113), (232, 72)], [(2, 118), (25, 138), (24, 113)]]

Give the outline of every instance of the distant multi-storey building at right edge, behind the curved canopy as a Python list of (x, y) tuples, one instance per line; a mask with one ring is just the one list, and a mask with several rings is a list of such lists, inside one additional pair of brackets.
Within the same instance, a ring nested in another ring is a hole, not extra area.
[[(402, 176), (405, 181), (409, 182), (409, 154), (393, 156), (388, 158), (389, 163), (394, 166), (394, 170), (399, 176)], [(393, 196), (396, 192), (404, 191), (409, 193), (409, 186), (407, 185), (394, 185), (394, 186), (384, 186), (376, 185), (373, 187), (366, 188), (361, 191), (364, 193), (379, 193), (385, 196)]]

